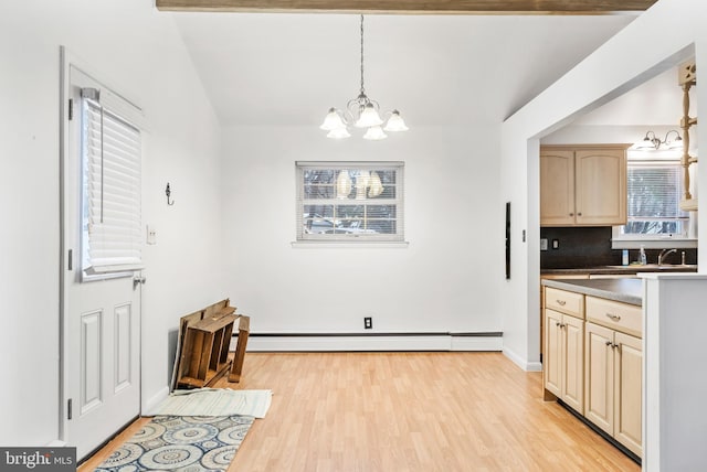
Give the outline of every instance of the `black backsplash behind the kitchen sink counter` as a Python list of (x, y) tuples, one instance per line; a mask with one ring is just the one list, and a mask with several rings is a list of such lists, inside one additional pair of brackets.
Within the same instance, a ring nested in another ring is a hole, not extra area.
[[(541, 227), (540, 238), (548, 240), (548, 250), (540, 251), (540, 269), (574, 269), (621, 264), (621, 249), (611, 248), (611, 226), (601, 227)], [(553, 240), (557, 248), (553, 248)], [(687, 264), (697, 264), (697, 249), (678, 249), (665, 261), (680, 264), (685, 251)], [(655, 264), (659, 249), (646, 249), (648, 264)], [(639, 259), (639, 249), (629, 250), (629, 261)]]

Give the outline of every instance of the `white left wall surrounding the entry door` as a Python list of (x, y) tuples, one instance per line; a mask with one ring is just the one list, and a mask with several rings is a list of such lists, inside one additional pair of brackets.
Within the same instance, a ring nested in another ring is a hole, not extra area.
[[(144, 403), (166, 389), (168, 331), (223, 297), (220, 128), (169, 15), (146, 0), (0, 7), (0, 444), (60, 436), (60, 45), (145, 109)], [(167, 207), (165, 185), (176, 205)]]

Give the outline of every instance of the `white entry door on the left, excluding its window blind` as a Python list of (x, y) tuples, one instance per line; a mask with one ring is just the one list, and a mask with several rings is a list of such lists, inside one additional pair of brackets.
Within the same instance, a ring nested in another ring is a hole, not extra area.
[[(93, 224), (86, 216), (87, 195), (91, 195), (86, 174), (93, 170), (84, 157), (86, 147), (94, 144), (91, 143), (93, 138), (87, 137), (89, 130), (82, 117), (82, 89), (99, 89), (101, 86), (73, 66), (68, 67), (66, 57), (62, 64), (65, 116), (62, 119), (61, 182), (61, 423), (64, 440), (77, 448), (81, 459), (140, 412), (140, 292), (144, 279), (136, 268), (98, 275), (91, 270), (86, 272), (91, 266), (86, 262), (91, 260), (86, 230)], [(99, 108), (103, 108), (102, 103)], [(93, 105), (96, 108), (96, 104)], [(101, 139), (96, 142), (102, 143), (101, 155), (105, 148), (108, 159), (107, 152), (114, 144), (107, 138), (103, 139), (103, 117), (99, 126)], [(108, 172), (106, 170), (105, 179), (108, 179)], [(106, 214), (109, 211), (113, 208), (106, 207)]]

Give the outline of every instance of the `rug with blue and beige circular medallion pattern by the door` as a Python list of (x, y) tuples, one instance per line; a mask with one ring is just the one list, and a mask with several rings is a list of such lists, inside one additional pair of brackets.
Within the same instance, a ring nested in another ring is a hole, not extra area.
[(225, 471), (253, 423), (251, 416), (156, 416), (96, 471)]

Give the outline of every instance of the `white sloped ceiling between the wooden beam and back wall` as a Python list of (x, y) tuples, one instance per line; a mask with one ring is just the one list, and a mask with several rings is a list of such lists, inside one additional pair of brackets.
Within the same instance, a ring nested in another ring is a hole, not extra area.
[[(318, 125), (358, 95), (358, 15), (168, 14), (224, 125)], [(411, 127), (496, 125), (634, 18), (367, 15), (366, 92)]]

